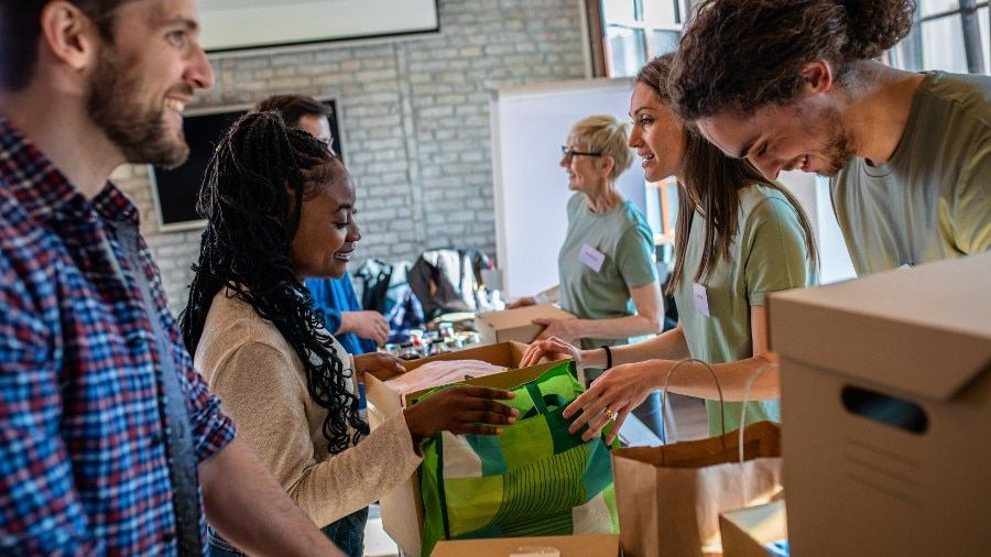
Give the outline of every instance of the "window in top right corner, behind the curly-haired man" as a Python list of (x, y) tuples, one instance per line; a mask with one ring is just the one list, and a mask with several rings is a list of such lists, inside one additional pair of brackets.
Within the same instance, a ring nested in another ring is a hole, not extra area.
[(988, 1), (918, 0), (912, 32), (889, 53), (889, 63), (917, 72), (991, 73)]

